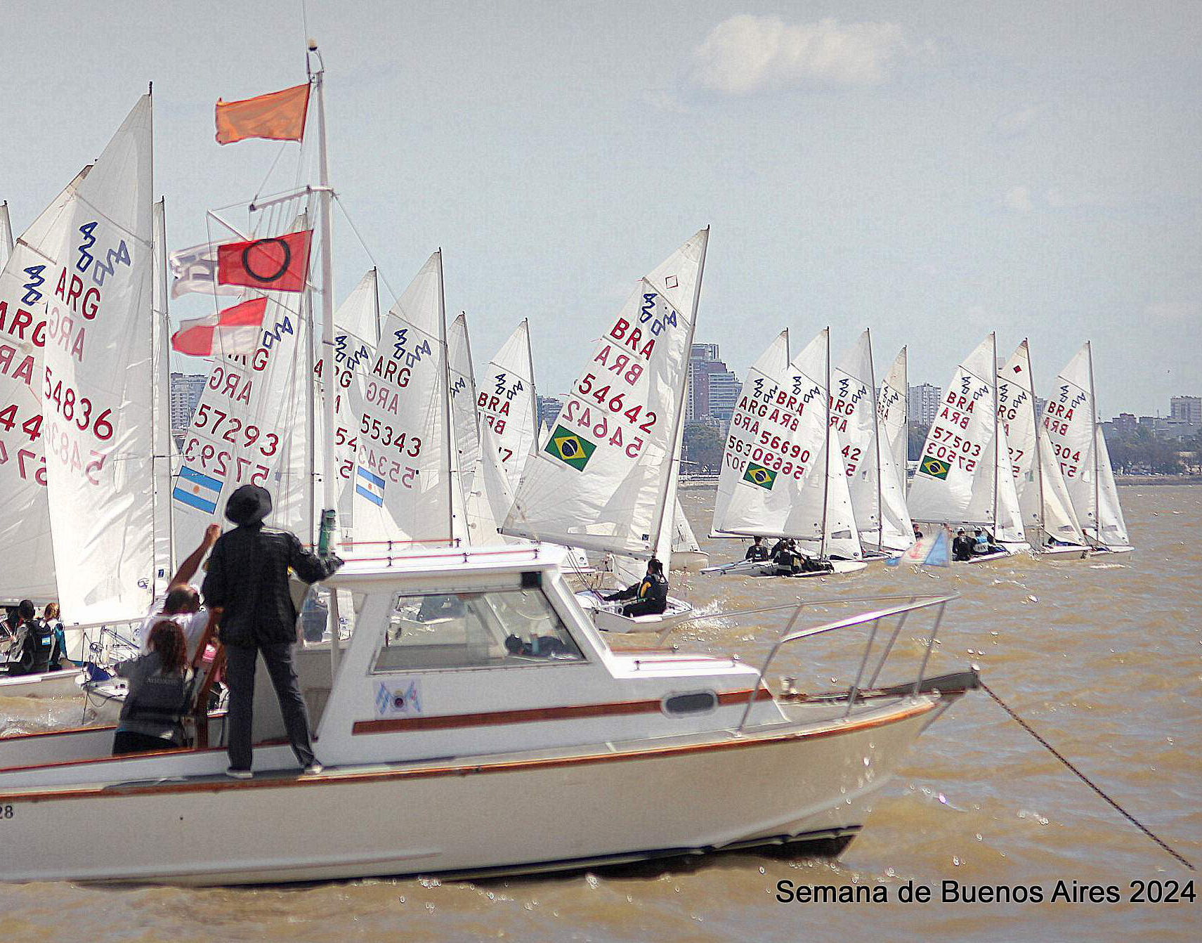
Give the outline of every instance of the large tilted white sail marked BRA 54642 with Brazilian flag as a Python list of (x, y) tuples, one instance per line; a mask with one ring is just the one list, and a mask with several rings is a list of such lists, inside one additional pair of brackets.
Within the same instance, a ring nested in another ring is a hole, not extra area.
[(607, 326), (504, 530), (649, 557), (672, 526), (684, 385), (709, 231), (642, 279)]

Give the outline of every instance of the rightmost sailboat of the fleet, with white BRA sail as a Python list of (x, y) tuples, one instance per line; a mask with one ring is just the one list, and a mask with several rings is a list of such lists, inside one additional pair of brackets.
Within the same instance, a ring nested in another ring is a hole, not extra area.
[(1082, 532), (1097, 551), (1127, 553), (1133, 547), (1127, 539), (1106, 437), (1097, 420), (1094, 350), (1088, 340), (1057, 374), (1054, 385), (1043, 408), (1042, 425)]

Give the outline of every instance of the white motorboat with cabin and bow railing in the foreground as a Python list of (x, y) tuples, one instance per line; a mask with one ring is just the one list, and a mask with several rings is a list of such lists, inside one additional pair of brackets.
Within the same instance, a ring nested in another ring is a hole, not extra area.
[[(250, 779), (222, 775), (221, 716), (204, 722), (208, 746), (147, 754), (108, 755), (103, 726), (0, 740), (0, 878), (256, 884), (834, 853), (918, 734), (977, 686), (972, 672), (924, 681), (926, 662), (917, 680), (876, 683), (902, 616), (910, 631), (917, 611), (932, 617), (929, 652), (947, 597), (798, 630), (795, 613), (752, 668), (612, 651), (561, 564), (546, 546), (349, 563), (329, 581), (356, 600), (333, 681), (328, 645), (297, 651), (319, 773), (280, 740), (266, 671)], [(766, 686), (783, 648), (888, 621), (881, 664), (865, 652), (851, 690)]]

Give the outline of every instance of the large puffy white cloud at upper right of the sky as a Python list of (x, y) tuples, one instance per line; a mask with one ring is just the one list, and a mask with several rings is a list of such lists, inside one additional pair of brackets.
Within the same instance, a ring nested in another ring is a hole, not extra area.
[(880, 85), (932, 48), (911, 42), (895, 23), (789, 24), (744, 13), (719, 23), (694, 49), (692, 81), (727, 95)]

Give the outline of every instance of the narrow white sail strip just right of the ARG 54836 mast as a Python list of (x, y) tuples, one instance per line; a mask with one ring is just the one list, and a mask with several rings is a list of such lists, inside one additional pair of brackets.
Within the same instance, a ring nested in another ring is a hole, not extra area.
[(154, 204), (154, 313), (150, 321), (150, 428), (154, 431), (154, 576), (151, 595), (166, 591), (175, 571), (171, 524), (171, 479), (174, 443), (171, 438), (171, 318), (167, 314), (167, 221), (163, 201)]

